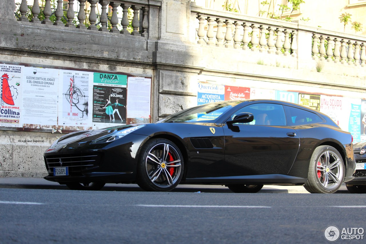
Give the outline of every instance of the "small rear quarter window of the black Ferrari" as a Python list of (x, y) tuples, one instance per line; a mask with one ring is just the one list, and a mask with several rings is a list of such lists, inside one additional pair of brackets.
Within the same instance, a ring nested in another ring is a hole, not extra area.
[(287, 125), (308, 125), (323, 122), (323, 119), (313, 112), (290, 106), (284, 106), (284, 108)]

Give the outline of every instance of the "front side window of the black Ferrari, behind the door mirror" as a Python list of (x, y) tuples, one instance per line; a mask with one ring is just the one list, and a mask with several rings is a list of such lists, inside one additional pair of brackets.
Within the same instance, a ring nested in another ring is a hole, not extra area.
[[(240, 108), (231, 116), (246, 112), (254, 115), (254, 120), (249, 125), (286, 125), (285, 112), (282, 105), (273, 103), (256, 103)], [(236, 123), (238, 124), (238, 123)]]

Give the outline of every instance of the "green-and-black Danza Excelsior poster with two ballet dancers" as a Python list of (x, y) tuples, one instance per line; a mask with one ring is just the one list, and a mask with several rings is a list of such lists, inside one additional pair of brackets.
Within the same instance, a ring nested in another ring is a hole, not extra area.
[(93, 129), (126, 124), (127, 75), (94, 73)]

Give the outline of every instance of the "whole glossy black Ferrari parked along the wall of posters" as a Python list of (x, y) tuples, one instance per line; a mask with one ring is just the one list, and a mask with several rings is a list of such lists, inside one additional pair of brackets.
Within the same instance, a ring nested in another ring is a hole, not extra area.
[(212, 184), (245, 193), (266, 184), (333, 193), (355, 171), (350, 133), (321, 112), (275, 100), (220, 101), (156, 123), (73, 132), (44, 158), (46, 180), (90, 190)]

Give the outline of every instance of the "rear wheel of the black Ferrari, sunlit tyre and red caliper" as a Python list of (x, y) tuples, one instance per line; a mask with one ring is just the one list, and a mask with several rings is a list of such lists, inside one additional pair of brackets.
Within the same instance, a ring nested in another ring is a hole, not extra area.
[(319, 146), (311, 156), (304, 187), (311, 193), (334, 193), (343, 182), (344, 172), (343, 159), (337, 149), (328, 145)]

